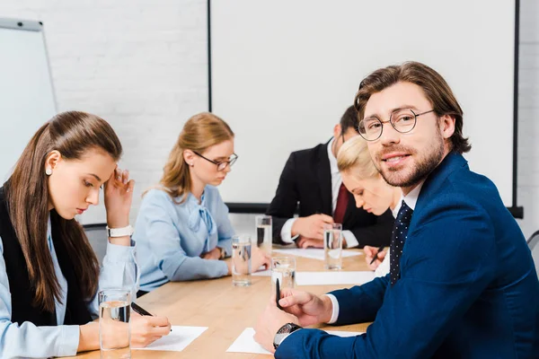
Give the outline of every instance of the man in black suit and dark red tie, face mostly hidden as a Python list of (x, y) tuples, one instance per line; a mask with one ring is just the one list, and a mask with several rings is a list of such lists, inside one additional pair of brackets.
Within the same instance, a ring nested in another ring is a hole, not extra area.
[[(328, 143), (290, 154), (267, 212), (273, 217), (275, 243), (323, 248), (323, 226), (334, 222), (342, 223), (348, 247), (389, 244), (391, 211), (376, 216), (357, 208), (340, 179), (336, 156), (346, 140), (358, 136), (357, 127), (358, 115), (350, 106)], [(298, 202), (299, 217), (294, 218)]]

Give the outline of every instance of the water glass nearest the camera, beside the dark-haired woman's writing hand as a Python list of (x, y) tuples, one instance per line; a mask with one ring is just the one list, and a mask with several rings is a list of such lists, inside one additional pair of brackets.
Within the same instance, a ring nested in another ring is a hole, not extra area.
[(131, 293), (124, 289), (99, 292), (99, 345), (102, 359), (131, 357)]

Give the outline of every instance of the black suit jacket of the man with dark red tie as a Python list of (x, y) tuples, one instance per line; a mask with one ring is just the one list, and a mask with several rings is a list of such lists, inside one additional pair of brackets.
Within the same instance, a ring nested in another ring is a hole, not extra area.
[[(275, 243), (283, 243), (281, 229), (294, 216), (298, 201), (300, 217), (317, 213), (331, 216), (331, 169), (327, 146), (318, 144), (314, 148), (290, 154), (267, 212), (273, 217)], [(389, 245), (393, 221), (390, 210), (376, 216), (357, 208), (354, 197), (349, 193), (342, 229), (354, 233), (360, 248), (365, 245)]]

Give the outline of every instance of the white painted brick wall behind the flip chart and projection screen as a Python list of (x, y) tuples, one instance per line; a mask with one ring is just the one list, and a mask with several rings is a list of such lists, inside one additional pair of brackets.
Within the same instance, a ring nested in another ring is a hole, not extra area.
[[(205, 0), (2, 0), (0, 17), (45, 24), (58, 110), (107, 119), (141, 192), (159, 179), (184, 121), (208, 109)], [(539, 4), (521, 0), (518, 205), (539, 229)], [(492, 74), (496, 75), (496, 74)], [(485, 114), (490, 109), (485, 109)], [(494, 149), (493, 149), (494, 150)], [(492, 155), (496, 155), (495, 152)], [(102, 208), (84, 223), (102, 222)], [(251, 225), (240, 216), (251, 232)]]

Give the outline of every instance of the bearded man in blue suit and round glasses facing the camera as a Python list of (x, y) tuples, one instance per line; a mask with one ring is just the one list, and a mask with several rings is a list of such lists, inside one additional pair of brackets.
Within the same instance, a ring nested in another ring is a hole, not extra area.
[[(356, 108), (376, 168), (402, 188), (390, 274), (322, 297), (283, 291), (284, 311), (270, 302), (255, 339), (279, 359), (539, 357), (530, 250), (462, 156), (471, 146), (446, 81), (419, 63), (382, 68), (360, 84)], [(299, 327), (366, 321), (358, 337)]]

